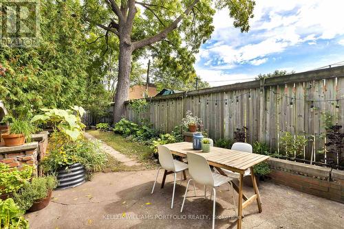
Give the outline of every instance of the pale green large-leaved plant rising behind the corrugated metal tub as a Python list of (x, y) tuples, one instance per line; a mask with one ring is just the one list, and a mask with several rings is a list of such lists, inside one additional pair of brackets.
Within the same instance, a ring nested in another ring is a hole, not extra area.
[(41, 109), (45, 113), (34, 116), (31, 122), (53, 123), (54, 128), (57, 128), (72, 141), (76, 141), (83, 135), (85, 125), (81, 122), (81, 117), (85, 114), (85, 110), (79, 106), (72, 106), (71, 108), (72, 110)]

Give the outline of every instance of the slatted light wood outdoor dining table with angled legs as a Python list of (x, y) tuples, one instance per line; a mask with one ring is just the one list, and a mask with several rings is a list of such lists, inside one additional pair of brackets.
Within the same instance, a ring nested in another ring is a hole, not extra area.
[[(219, 173), (226, 176), (226, 173), (222, 169), (227, 169), (230, 171), (234, 171), (239, 173), (239, 186), (237, 186), (233, 182), (233, 187), (235, 191), (239, 194), (239, 201), (238, 201), (238, 211), (237, 211), (237, 228), (241, 228), (242, 224), (242, 210), (246, 208), (249, 204), (257, 201), (257, 206), (259, 213), (261, 213), (261, 199), (259, 195), (259, 190), (257, 186), (257, 182), (255, 180), (255, 173), (253, 171), (253, 166), (257, 165), (264, 160), (268, 160), (269, 156), (261, 155), (261, 154), (252, 154), (248, 152), (241, 152), (232, 149), (224, 149), (219, 147), (211, 147), (211, 152), (203, 153), (201, 150), (193, 149), (192, 143), (182, 142), (182, 143), (171, 143), (164, 145), (165, 147), (171, 150), (172, 154), (178, 155), (182, 158), (186, 158), (186, 154), (188, 152), (197, 153), (199, 152), (200, 155), (204, 156), (208, 161), (209, 165), (213, 165)], [(243, 186), (243, 179), (244, 173), (246, 169), (250, 169), (251, 172), (251, 179), (253, 184), (253, 189), (255, 190), (255, 195), (251, 197), (247, 197), (242, 192)], [(162, 188), (164, 187), (164, 182), (166, 179), (166, 175), (171, 173), (170, 171), (164, 171), (164, 177), (162, 178)], [(184, 173), (184, 179), (186, 179), (186, 175)], [(244, 203), (243, 200), (244, 199)]]

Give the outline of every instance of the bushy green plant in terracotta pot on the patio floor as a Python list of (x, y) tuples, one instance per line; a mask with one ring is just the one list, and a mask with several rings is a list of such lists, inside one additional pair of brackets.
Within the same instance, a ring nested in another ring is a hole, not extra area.
[(57, 184), (56, 176), (33, 178), (32, 182), (26, 183), (18, 193), (14, 193), (14, 202), (22, 210), (31, 212), (41, 210), (50, 203), (52, 190)]

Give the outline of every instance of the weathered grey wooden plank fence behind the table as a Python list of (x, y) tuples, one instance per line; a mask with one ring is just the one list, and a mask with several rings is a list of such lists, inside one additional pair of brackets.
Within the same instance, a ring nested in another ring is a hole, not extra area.
[(233, 132), (248, 128), (246, 141), (264, 142), (281, 152), (283, 132), (302, 134), (310, 141), (304, 156), (319, 161), (316, 154), (325, 139), (322, 114), (344, 125), (344, 67), (295, 73), (198, 91), (152, 97), (147, 112), (135, 114), (126, 103), (125, 115), (131, 121), (148, 119), (160, 132), (180, 125), (186, 110), (204, 123), (209, 137), (233, 138)]

